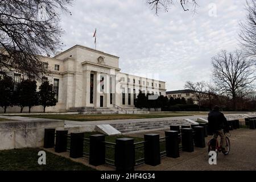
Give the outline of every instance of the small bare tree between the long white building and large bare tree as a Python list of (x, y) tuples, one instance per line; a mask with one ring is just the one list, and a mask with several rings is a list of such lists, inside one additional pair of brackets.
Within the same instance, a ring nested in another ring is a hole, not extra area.
[(191, 93), (193, 96), (195, 96), (196, 101), (198, 102), (199, 105), (199, 110), (201, 109), (201, 101), (205, 97), (205, 88), (206, 84), (204, 81), (200, 82), (192, 82), (192, 81), (187, 81), (185, 83), (184, 88), (191, 90)]

